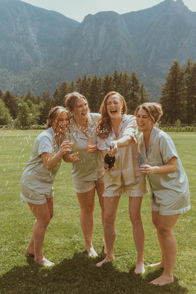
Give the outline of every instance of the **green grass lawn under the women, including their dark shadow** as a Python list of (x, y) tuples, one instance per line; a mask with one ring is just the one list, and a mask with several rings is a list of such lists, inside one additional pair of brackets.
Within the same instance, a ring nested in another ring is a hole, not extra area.
[(41, 267), (25, 253), (34, 216), (20, 198), (20, 178), (41, 131), (0, 131), (0, 293), (196, 293), (195, 287), (195, 139), (196, 133), (169, 133), (190, 183), (191, 210), (175, 225), (178, 244), (174, 283), (149, 282), (163, 272), (147, 268), (160, 261), (160, 248), (151, 220), (150, 195), (143, 197), (145, 274), (135, 275), (136, 250), (128, 213), (128, 197), (120, 199), (116, 217), (115, 261), (95, 265), (105, 257), (100, 207), (96, 196), (93, 246), (98, 258), (86, 256), (80, 227), (80, 208), (71, 181), (71, 165), (62, 163), (54, 182), (54, 217), (46, 230), (43, 254), (53, 267)]

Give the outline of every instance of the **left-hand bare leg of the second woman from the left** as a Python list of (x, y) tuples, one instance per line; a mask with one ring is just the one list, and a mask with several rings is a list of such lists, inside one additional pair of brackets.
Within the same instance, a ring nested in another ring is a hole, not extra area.
[(98, 256), (92, 245), (93, 211), (95, 206), (95, 188), (86, 193), (77, 193), (80, 204), (80, 224), (88, 256)]

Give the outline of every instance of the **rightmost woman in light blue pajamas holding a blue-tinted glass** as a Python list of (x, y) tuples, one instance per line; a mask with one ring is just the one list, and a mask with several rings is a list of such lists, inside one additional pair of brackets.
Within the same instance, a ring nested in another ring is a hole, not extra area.
[(146, 164), (140, 173), (147, 176), (151, 190), (152, 220), (161, 248), (161, 261), (151, 267), (164, 268), (163, 274), (151, 283), (172, 283), (177, 255), (174, 225), (180, 213), (190, 209), (188, 179), (175, 145), (165, 132), (159, 130), (158, 120), (163, 111), (157, 103), (144, 103), (135, 110), (140, 153)]

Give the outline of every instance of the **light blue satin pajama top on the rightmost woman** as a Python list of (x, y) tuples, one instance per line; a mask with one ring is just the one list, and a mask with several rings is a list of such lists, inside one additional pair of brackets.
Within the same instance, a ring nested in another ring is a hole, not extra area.
[[(189, 196), (188, 178), (178, 157), (174, 142), (167, 133), (153, 126), (146, 151), (143, 133), (139, 136), (140, 153), (144, 162), (150, 166), (163, 166), (173, 156), (176, 159), (176, 171), (167, 175), (147, 175), (151, 191), (151, 201), (168, 203), (183, 201)], [(189, 208), (190, 209), (190, 208)]]

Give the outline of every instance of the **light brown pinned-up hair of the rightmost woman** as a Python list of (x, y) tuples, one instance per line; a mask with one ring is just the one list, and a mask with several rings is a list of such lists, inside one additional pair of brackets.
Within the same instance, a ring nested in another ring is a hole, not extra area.
[(153, 125), (158, 127), (158, 121), (160, 117), (163, 115), (162, 105), (156, 102), (146, 102), (138, 106), (135, 111), (134, 115), (137, 116), (138, 111), (143, 108), (151, 117)]

